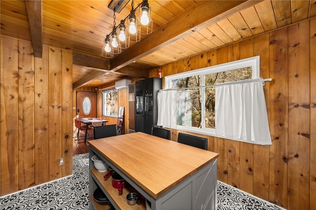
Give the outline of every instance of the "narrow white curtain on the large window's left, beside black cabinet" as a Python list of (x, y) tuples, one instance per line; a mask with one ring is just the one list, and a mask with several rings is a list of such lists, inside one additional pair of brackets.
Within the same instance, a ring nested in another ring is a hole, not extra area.
[(176, 90), (160, 91), (158, 93), (158, 126), (176, 128), (176, 98)]

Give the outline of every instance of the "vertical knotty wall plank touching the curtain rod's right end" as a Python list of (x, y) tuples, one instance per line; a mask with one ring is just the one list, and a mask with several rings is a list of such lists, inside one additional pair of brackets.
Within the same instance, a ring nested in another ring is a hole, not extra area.
[(269, 201), (287, 208), (288, 66), (287, 28), (270, 33), (270, 180)]

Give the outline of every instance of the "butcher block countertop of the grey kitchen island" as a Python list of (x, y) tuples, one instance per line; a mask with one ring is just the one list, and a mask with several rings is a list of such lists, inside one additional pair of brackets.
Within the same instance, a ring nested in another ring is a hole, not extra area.
[(154, 199), (218, 157), (141, 132), (90, 140), (89, 144)]

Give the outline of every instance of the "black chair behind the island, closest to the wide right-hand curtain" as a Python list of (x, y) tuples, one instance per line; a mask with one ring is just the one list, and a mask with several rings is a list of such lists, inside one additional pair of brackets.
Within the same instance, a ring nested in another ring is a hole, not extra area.
[(178, 134), (178, 142), (184, 143), (190, 146), (194, 146), (200, 149), (207, 150), (207, 138), (194, 136), (191, 134), (184, 134), (179, 133)]

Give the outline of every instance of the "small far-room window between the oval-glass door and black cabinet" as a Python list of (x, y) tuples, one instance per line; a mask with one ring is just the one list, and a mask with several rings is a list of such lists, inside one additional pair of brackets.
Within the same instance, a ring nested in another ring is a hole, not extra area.
[(102, 115), (118, 117), (118, 91), (107, 90), (102, 92)]

